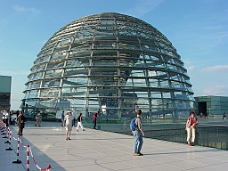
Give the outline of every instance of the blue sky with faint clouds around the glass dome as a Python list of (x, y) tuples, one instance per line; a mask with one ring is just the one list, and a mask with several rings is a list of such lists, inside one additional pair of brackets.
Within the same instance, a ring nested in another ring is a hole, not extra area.
[(164, 34), (184, 62), (194, 96), (228, 96), (227, 0), (2, 0), (0, 75), (12, 76), (11, 109), (19, 109), (46, 41), (68, 23), (102, 12), (131, 15)]

